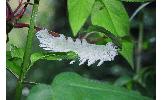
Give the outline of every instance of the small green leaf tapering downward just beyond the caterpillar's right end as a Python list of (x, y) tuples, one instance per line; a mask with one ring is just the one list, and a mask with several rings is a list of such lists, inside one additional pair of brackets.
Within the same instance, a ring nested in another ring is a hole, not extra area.
[(132, 68), (134, 68), (133, 54), (134, 44), (132, 41), (122, 40), (122, 51), (119, 53), (128, 61)]

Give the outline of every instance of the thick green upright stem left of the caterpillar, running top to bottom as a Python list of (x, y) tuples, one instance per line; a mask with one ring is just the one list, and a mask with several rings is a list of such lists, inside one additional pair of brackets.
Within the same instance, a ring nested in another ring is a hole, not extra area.
[(34, 0), (34, 5), (33, 5), (33, 10), (32, 10), (32, 15), (30, 19), (30, 26), (28, 30), (28, 36), (27, 36), (27, 42), (26, 42), (26, 47), (25, 47), (25, 53), (24, 53), (24, 59), (22, 63), (22, 70), (21, 70), (21, 75), (19, 77), (19, 80), (17, 82), (16, 86), (16, 95), (15, 95), (15, 100), (20, 100), (21, 99), (21, 93), (22, 93), (22, 88), (23, 88), (23, 80), (25, 78), (25, 75), (27, 73), (27, 69), (30, 64), (30, 56), (31, 56), (31, 49), (32, 49), (32, 42), (33, 42), (33, 37), (35, 34), (35, 22), (36, 22), (36, 15), (38, 12), (38, 5), (39, 5), (39, 0)]

